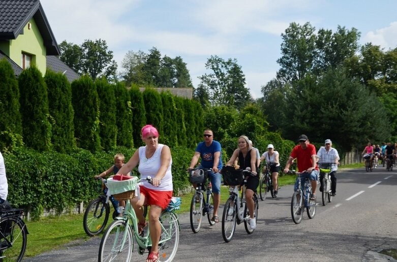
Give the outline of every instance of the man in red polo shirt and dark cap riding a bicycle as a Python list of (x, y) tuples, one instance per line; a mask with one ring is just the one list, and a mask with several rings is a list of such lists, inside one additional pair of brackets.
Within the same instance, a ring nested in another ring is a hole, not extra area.
[[(304, 173), (300, 176), (301, 184), (304, 184), (304, 179), (309, 177), (312, 184), (311, 200), (316, 200), (316, 188), (319, 169), (316, 163), (316, 147), (309, 142), (306, 135), (300, 135), (298, 138), (299, 144), (296, 145), (291, 152), (291, 155), (284, 168), (284, 173), (288, 173), (292, 161), (296, 158), (299, 172)], [(296, 190), (296, 184), (295, 189)]]

